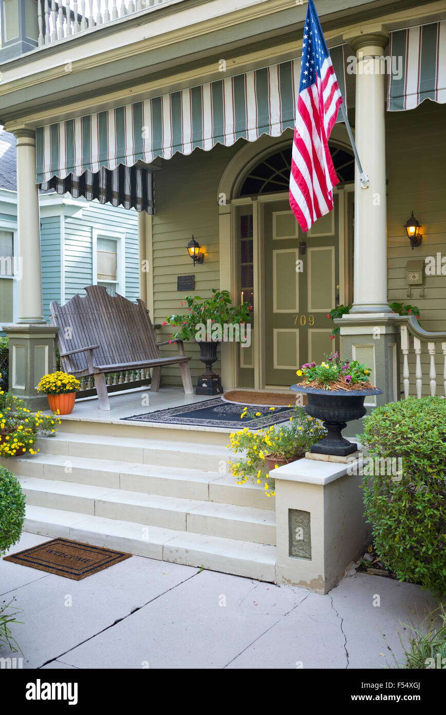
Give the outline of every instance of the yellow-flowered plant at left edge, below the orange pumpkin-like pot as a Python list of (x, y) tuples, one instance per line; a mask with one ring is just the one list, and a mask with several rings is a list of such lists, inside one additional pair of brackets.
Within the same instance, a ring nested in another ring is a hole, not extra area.
[(36, 454), (38, 436), (54, 435), (58, 424), (60, 420), (54, 413), (32, 413), (23, 400), (0, 391), (0, 457)]

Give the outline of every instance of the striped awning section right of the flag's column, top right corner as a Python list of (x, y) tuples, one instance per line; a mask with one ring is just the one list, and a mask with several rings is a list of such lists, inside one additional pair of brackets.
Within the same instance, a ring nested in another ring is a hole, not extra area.
[(446, 20), (390, 33), (387, 109), (415, 109), (425, 99), (446, 103)]

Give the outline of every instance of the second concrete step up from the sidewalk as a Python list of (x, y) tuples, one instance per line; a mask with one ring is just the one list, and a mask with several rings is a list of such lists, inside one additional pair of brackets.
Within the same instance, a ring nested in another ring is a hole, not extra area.
[(276, 543), (275, 513), (267, 509), (36, 477), (19, 477), (19, 481), (30, 506), (143, 523), (149, 528)]

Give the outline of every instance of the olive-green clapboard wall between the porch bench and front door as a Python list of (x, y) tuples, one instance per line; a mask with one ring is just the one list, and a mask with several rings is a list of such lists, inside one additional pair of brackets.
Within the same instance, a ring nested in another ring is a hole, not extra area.
[[(195, 275), (192, 295), (208, 297), (219, 288), (219, 212), (218, 187), (227, 163), (240, 148), (217, 145), (210, 152), (196, 149), (188, 157), (175, 154), (163, 162), (155, 174), (155, 215), (152, 219), (154, 321), (163, 322), (168, 315), (186, 309), (181, 306), (184, 294), (177, 291), (177, 276)], [(202, 265), (194, 267), (187, 254), (187, 243), (194, 235), (205, 256)], [(159, 331), (160, 340), (169, 339), (169, 329)], [(204, 370), (199, 361), (199, 347), (194, 342), (185, 346), (192, 380)], [(174, 345), (162, 348), (163, 355), (174, 354)], [(214, 363), (219, 372), (220, 363)], [(163, 368), (164, 385), (181, 385), (177, 367)]]

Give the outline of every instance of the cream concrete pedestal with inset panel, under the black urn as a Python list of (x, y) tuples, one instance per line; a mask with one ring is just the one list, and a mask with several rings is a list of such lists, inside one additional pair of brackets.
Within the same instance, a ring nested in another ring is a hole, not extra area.
[(327, 593), (364, 553), (362, 458), (299, 459), (270, 472), (276, 491), (276, 583)]

